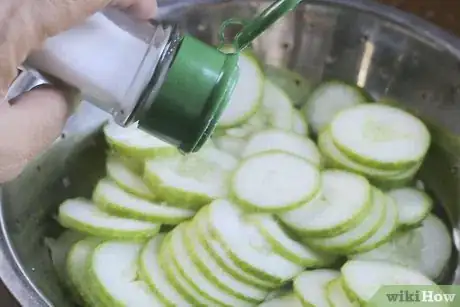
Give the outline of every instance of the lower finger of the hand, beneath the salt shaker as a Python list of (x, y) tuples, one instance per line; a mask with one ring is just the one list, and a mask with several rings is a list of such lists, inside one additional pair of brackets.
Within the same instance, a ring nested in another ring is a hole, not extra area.
[(66, 96), (50, 86), (0, 104), (0, 183), (14, 179), (59, 137), (68, 113)]

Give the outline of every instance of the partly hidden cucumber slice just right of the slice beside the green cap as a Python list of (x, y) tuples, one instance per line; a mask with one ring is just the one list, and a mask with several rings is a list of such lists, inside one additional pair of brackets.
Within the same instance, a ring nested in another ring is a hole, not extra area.
[(294, 122), (294, 108), (289, 96), (273, 82), (266, 80), (262, 112), (267, 116), (269, 126), (291, 131)]

